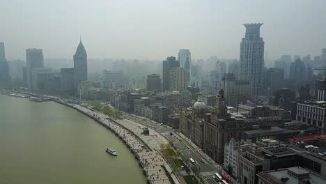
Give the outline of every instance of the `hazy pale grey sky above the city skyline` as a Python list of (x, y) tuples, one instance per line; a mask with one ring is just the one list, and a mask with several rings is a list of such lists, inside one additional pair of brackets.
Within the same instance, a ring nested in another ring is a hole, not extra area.
[(1, 0), (0, 41), (7, 59), (42, 48), (72, 59), (83, 41), (88, 58), (238, 58), (247, 22), (263, 22), (265, 56), (319, 55), (326, 47), (325, 0)]

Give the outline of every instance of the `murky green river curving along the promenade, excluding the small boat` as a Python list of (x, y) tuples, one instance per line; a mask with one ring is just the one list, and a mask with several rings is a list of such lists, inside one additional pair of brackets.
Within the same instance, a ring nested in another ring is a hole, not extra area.
[(91, 118), (0, 94), (0, 183), (144, 184), (146, 177), (121, 139)]

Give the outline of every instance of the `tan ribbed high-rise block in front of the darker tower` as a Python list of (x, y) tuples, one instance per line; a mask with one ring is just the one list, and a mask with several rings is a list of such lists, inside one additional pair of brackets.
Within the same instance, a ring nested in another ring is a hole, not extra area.
[(185, 89), (187, 89), (185, 69), (172, 68), (170, 70), (170, 90), (183, 91)]

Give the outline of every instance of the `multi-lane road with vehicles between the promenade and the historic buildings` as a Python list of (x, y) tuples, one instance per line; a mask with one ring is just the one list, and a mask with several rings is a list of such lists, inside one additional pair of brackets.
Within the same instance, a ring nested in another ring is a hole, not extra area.
[[(153, 128), (155, 131), (159, 132), (161, 135), (166, 137), (167, 140), (169, 140), (171, 143), (173, 143), (176, 150), (180, 151), (182, 155), (184, 155), (186, 158), (192, 158), (196, 162), (196, 166), (199, 167), (199, 172), (201, 176), (205, 179), (205, 181), (209, 184), (217, 184), (217, 181), (215, 181), (215, 172), (218, 171), (218, 169), (212, 165), (209, 164), (203, 156), (201, 156), (195, 148), (187, 144), (187, 141), (182, 139), (178, 136), (176, 132), (174, 132), (173, 129), (166, 127), (164, 125), (160, 125), (159, 123), (156, 123), (154, 121), (150, 121), (147, 118), (134, 116), (133, 114), (127, 114), (123, 113), (124, 118), (129, 119), (130, 121), (134, 121), (136, 123), (139, 123), (141, 125), (145, 125), (149, 128)], [(172, 133), (172, 135), (170, 134)], [(220, 166), (218, 166), (220, 167)], [(219, 169), (221, 171), (221, 169)], [(224, 171), (222, 171), (222, 174), (225, 174)]]

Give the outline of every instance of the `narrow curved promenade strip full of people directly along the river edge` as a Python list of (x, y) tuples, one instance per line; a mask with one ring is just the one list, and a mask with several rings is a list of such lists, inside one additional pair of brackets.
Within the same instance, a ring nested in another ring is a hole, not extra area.
[[(161, 167), (162, 165), (167, 165), (166, 161), (162, 158), (162, 155), (157, 151), (150, 151), (150, 148), (147, 148), (147, 145), (144, 145), (139, 138), (130, 132), (130, 130), (127, 130), (122, 125), (112, 121), (108, 116), (94, 112), (86, 107), (64, 102), (62, 100), (55, 100), (55, 102), (76, 109), (114, 132), (130, 148), (130, 151), (134, 153), (134, 157), (139, 161), (139, 165), (142, 167), (148, 183), (171, 183), (166, 172)], [(176, 180), (174, 183), (178, 184), (179, 182)]]

